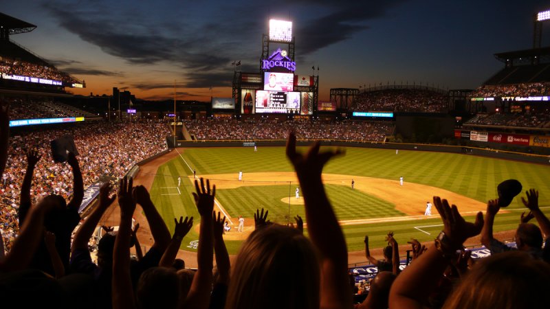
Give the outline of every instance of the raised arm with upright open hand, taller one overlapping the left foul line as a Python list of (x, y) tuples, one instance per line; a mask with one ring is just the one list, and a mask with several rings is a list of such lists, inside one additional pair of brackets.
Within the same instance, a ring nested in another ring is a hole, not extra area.
[(197, 193), (193, 193), (195, 205), (201, 215), (199, 231), (199, 248), (197, 250), (198, 269), (193, 277), (191, 288), (184, 302), (184, 308), (208, 308), (210, 289), (212, 288), (212, 255), (214, 253), (212, 236), (212, 211), (214, 210), (214, 196), (216, 186), (210, 191), (210, 181), (201, 178), (201, 185), (195, 180)]

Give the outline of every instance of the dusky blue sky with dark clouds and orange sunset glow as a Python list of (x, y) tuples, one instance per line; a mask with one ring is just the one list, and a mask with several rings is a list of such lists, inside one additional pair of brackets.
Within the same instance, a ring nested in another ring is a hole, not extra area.
[(550, 8), (509, 0), (2, 2), (0, 12), (38, 26), (12, 41), (86, 81), (74, 93), (119, 87), (146, 100), (173, 98), (174, 80), (178, 100), (230, 97), (231, 63), (259, 71), (270, 17), (294, 22), (296, 73), (320, 68), (320, 100), (331, 88), (380, 82), (473, 89), (503, 67), (493, 54), (531, 48), (533, 14)]

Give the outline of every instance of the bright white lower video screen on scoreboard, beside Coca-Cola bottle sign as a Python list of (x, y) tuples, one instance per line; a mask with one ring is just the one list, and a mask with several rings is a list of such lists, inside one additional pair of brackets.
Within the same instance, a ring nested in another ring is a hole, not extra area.
[(256, 113), (298, 113), (300, 93), (287, 91), (256, 91)]

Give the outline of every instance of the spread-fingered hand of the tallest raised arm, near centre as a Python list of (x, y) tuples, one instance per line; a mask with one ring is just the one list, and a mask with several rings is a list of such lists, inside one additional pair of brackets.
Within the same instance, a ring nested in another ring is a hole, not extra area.
[(292, 162), (292, 165), (294, 165), (298, 177), (304, 175), (320, 176), (323, 166), (325, 166), (332, 157), (344, 153), (340, 149), (319, 153), (319, 149), (320, 144), (317, 141), (309, 148), (306, 155), (296, 153), (296, 134), (294, 132), (289, 133), (287, 139), (287, 157)]

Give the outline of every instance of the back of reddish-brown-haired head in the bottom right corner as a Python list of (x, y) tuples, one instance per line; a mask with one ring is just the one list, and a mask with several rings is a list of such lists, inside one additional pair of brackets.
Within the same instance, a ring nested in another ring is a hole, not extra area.
[(443, 308), (547, 308), (550, 266), (522, 251), (478, 262)]

